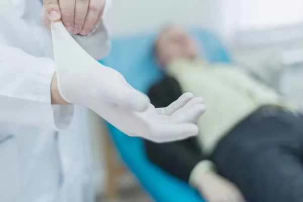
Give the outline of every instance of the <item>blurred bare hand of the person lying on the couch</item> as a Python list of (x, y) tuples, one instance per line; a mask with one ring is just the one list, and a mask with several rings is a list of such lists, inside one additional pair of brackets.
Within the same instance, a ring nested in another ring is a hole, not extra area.
[(197, 189), (208, 202), (245, 201), (235, 184), (214, 171), (207, 171), (201, 176)]

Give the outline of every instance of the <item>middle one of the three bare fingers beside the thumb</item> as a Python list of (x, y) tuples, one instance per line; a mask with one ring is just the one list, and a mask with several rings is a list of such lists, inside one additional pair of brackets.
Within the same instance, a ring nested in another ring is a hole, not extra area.
[(74, 14), (74, 29), (73, 33), (78, 34), (82, 31), (84, 20), (87, 15), (89, 0), (76, 0), (75, 14)]

